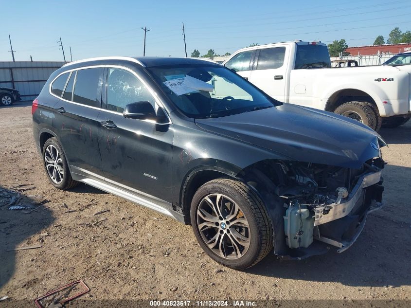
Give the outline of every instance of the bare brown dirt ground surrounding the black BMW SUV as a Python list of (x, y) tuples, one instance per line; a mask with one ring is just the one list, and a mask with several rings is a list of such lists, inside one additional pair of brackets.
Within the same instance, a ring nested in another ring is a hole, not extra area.
[(303, 261), (269, 254), (234, 271), (202, 252), (190, 226), (85, 184), (55, 189), (33, 141), (30, 102), (0, 107), (0, 118), (0, 188), (30, 184), (22, 196), (50, 200), (30, 214), (0, 207), (0, 298), (33, 300), (78, 279), (93, 299), (411, 298), (411, 123), (380, 132), (389, 144), (385, 207), (353, 247)]

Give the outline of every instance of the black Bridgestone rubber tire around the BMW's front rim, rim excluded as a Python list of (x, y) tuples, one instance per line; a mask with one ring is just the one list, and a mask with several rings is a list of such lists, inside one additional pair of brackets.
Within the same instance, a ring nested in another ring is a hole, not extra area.
[[(197, 209), (205, 197), (213, 194), (221, 194), (232, 199), (241, 209), (249, 224), (250, 246), (243, 255), (236, 259), (227, 259), (217, 255), (208, 247), (201, 236), (197, 223)], [(246, 184), (240, 181), (217, 179), (202, 185), (191, 202), (190, 218), (194, 234), (201, 248), (214, 261), (226, 267), (235, 270), (249, 268), (261, 261), (272, 250), (273, 231), (265, 206), (262, 200)]]

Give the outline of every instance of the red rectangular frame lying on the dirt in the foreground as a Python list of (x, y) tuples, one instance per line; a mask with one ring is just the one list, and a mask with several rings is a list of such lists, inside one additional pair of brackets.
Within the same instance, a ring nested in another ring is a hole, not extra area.
[(63, 307), (67, 302), (89, 292), (83, 280), (78, 280), (36, 298), (37, 308)]

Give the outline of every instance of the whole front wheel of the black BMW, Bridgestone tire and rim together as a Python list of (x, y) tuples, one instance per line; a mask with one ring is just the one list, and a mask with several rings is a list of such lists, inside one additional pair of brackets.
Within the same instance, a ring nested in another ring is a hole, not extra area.
[[(217, 209), (215, 204), (222, 206)], [(191, 202), (190, 218), (201, 248), (226, 267), (249, 268), (272, 250), (273, 231), (264, 204), (240, 181), (218, 179), (202, 185)]]

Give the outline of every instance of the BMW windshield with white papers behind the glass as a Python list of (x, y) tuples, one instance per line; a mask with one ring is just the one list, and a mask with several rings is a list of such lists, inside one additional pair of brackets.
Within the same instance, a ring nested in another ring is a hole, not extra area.
[(210, 64), (147, 68), (190, 118), (213, 118), (280, 105), (231, 70)]

